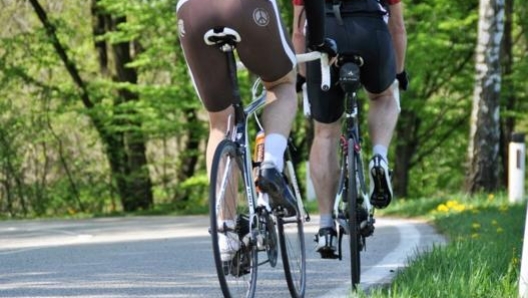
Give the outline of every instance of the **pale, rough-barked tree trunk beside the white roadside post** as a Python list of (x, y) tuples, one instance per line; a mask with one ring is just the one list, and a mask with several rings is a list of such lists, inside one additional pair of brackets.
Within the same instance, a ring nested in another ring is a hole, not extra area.
[(472, 194), (494, 191), (499, 185), (500, 43), (503, 31), (504, 0), (481, 0), (466, 176), (466, 190)]

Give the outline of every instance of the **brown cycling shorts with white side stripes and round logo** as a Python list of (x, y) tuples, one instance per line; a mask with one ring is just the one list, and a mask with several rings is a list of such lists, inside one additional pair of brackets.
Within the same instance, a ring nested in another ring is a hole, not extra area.
[(210, 112), (233, 101), (225, 54), (206, 45), (204, 34), (228, 27), (240, 34), (240, 60), (265, 82), (276, 81), (295, 66), (295, 52), (275, 0), (180, 0), (178, 33), (198, 96)]

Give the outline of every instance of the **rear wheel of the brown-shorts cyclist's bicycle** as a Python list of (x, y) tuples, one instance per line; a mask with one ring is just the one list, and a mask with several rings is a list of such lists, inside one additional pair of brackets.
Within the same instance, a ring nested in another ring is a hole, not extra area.
[[(258, 254), (249, 226), (243, 173), (236, 144), (223, 140), (211, 165), (209, 215), (214, 261), (224, 297), (253, 297), (257, 284)], [(226, 238), (227, 246), (239, 248), (231, 257), (226, 257)]]

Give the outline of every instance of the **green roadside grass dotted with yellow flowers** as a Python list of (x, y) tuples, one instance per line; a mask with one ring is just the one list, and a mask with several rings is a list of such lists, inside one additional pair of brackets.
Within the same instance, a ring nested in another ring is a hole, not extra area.
[[(526, 204), (505, 195), (400, 200), (383, 215), (421, 217), (448, 238), (368, 297), (518, 297)], [(360, 296), (364, 296), (361, 293)]]

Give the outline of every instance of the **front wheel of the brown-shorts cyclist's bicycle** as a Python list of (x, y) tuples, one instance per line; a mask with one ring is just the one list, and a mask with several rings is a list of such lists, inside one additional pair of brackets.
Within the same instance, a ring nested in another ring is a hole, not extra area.
[[(291, 157), (288, 156), (288, 159), (290, 159), (288, 160), (288, 163), (290, 163)], [(298, 189), (297, 185), (293, 185), (297, 182), (297, 177), (293, 164), (288, 163), (286, 168), (288, 185), (294, 191)], [(294, 193), (297, 193), (297, 191), (294, 191)], [(301, 198), (298, 197), (297, 199)], [(302, 204), (298, 204), (299, 206), (302, 206)], [(298, 210), (296, 216), (278, 217), (277, 228), (284, 274), (291, 297), (304, 297), (306, 290), (306, 247), (303, 212)]]

